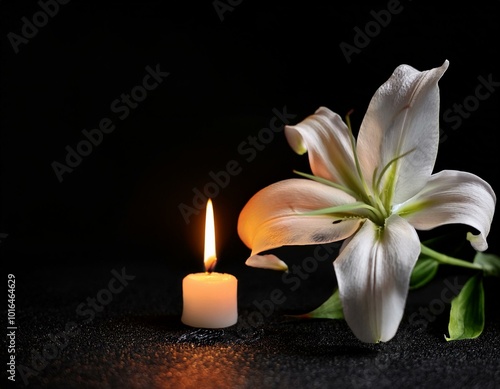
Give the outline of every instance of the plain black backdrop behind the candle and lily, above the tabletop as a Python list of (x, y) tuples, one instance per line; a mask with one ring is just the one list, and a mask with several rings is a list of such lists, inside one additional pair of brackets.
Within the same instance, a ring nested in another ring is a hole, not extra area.
[[(214, 3), (72, 0), (15, 53), (8, 34), (21, 35), (41, 8), (2, 1), (0, 261), (16, 275), (19, 293), (57, 304), (59, 294), (81, 285), (95, 291), (111, 269), (128, 266), (145, 284), (164, 277), (160, 308), (179, 312), (182, 276), (202, 269), (204, 221), (201, 210), (186, 223), (179, 207), (193, 207), (194, 190), (213, 182), (210, 172), (236, 161), (241, 172), (212, 196), (217, 269), (241, 279), (243, 303), (264, 295), (272, 287), (267, 282), (278, 280), (245, 266), (249, 249), (237, 235), (238, 214), (264, 186), (309, 167), (282, 132), (251, 161), (241, 144), (283, 107), (296, 115), (292, 124), (320, 106), (341, 116), (354, 109), (357, 129), (375, 90), (403, 63), (426, 70), (450, 61), (439, 82), (435, 170), (475, 173), (498, 191), (498, 85), (483, 100), (474, 96), (478, 77), (500, 82), (499, 1), (246, 0), (219, 13)], [(399, 12), (371, 30), (348, 62), (341, 43), (354, 45), (357, 29), (373, 26), (374, 13), (393, 4)], [(169, 75), (121, 120), (111, 104), (142, 84), (147, 66)], [(479, 103), (457, 125), (445, 112), (465, 101)], [(85, 139), (82, 130), (103, 118), (115, 130), (59, 182), (53, 162), (64, 163), (66, 146), (75, 148)], [(494, 219), (493, 253), (500, 253), (498, 229)], [(429, 236), (450, 231), (446, 250), (467, 246), (460, 226)], [(312, 278), (329, 290), (334, 276), (330, 265), (325, 269)], [(320, 288), (312, 281), (307, 287)], [(72, 295), (75, 301), (82, 293)], [(302, 303), (298, 298), (289, 308)], [(20, 304), (22, 311), (33, 302)]]

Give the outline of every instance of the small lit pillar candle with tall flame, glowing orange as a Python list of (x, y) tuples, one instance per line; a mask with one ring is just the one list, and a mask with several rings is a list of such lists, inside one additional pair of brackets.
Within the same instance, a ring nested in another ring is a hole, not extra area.
[(212, 270), (217, 263), (214, 211), (208, 199), (205, 216), (205, 272), (182, 280), (181, 321), (191, 327), (224, 328), (238, 321), (236, 277)]

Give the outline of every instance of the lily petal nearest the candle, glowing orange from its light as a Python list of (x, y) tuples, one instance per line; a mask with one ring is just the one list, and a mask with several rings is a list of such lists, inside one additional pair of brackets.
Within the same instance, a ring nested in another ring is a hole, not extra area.
[(352, 235), (362, 219), (304, 215), (354, 203), (343, 191), (300, 178), (279, 181), (257, 192), (243, 207), (238, 234), (252, 254), (285, 245), (331, 243)]

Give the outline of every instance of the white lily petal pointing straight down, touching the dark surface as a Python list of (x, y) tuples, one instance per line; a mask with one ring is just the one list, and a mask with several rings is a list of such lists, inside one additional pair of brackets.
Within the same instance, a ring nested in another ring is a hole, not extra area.
[(383, 229), (366, 220), (333, 263), (347, 324), (367, 343), (394, 337), (420, 254), (415, 229), (398, 215)]

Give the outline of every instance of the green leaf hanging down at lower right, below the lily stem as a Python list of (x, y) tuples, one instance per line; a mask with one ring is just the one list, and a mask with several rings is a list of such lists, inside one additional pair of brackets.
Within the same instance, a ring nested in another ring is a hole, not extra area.
[(484, 329), (484, 288), (481, 274), (471, 277), (451, 301), (447, 341), (477, 338)]

